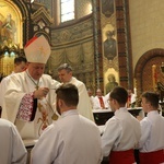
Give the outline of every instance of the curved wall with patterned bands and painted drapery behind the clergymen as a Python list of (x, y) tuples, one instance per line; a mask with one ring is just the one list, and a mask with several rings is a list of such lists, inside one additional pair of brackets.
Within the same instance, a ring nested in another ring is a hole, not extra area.
[(93, 22), (87, 16), (77, 24), (51, 31), (52, 51), (48, 60), (48, 68), (52, 77), (58, 79), (57, 68), (68, 62), (73, 68), (73, 74), (94, 87), (94, 42)]

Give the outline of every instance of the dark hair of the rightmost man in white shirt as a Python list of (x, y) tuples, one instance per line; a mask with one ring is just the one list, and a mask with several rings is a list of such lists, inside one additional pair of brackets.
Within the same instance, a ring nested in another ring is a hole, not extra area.
[(153, 107), (159, 108), (160, 95), (155, 92), (143, 92), (142, 97), (145, 98)]

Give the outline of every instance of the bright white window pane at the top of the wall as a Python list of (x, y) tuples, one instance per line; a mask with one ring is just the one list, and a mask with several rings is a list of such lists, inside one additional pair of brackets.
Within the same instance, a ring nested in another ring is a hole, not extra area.
[(74, 19), (74, 0), (60, 0), (61, 22)]

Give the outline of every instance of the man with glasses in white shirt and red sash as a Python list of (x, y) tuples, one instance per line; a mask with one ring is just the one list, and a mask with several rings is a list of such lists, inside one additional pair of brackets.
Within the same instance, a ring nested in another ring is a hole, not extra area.
[(127, 110), (128, 92), (116, 86), (109, 94), (109, 105), (115, 116), (105, 125), (102, 136), (103, 155), (109, 155), (109, 164), (134, 163), (133, 149), (141, 137), (140, 122)]

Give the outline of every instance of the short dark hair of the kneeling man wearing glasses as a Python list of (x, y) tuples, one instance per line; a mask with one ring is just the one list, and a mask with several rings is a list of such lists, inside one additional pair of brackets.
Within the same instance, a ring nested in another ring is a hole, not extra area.
[(116, 86), (112, 90), (109, 97), (116, 99), (118, 104), (125, 105), (128, 101), (128, 92), (122, 86)]

